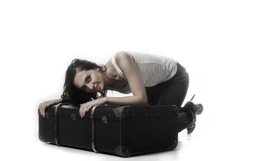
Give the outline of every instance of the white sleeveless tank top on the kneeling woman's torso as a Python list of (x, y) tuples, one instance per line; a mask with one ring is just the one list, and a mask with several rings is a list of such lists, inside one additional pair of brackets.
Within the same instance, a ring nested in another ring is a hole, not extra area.
[[(143, 85), (145, 87), (152, 87), (162, 82), (171, 79), (177, 72), (177, 61), (167, 57), (155, 54), (145, 54), (137, 52), (128, 52), (135, 59), (135, 65), (142, 76)], [(115, 54), (116, 55), (116, 54)], [(116, 68), (117, 73), (126, 79), (120, 68), (116, 65), (115, 55), (112, 56), (111, 62)], [(125, 88), (111, 88), (105, 85), (106, 90), (115, 90), (123, 94), (131, 93), (129, 84)]]

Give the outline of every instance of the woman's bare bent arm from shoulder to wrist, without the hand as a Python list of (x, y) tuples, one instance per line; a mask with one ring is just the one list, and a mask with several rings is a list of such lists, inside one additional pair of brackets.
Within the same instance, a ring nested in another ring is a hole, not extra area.
[(124, 73), (134, 96), (107, 97), (108, 105), (147, 105), (148, 99), (143, 79), (133, 61), (131, 54), (121, 51), (116, 53), (116, 64)]

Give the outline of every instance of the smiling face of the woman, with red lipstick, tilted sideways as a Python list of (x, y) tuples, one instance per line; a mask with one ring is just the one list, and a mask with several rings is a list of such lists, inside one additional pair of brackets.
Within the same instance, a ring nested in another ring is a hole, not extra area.
[(73, 83), (76, 88), (88, 93), (102, 92), (104, 89), (104, 79), (98, 68), (80, 72), (77, 70)]

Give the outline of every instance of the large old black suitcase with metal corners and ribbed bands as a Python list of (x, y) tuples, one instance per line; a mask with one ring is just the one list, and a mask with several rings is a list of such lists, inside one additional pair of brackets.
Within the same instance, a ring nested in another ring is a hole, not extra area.
[(39, 115), (39, 139), (58, 146), (124, 157), (174, 150), (178, 143), (178, 108), (96, 105), (83, 118), (80, 105), (59, 103)]

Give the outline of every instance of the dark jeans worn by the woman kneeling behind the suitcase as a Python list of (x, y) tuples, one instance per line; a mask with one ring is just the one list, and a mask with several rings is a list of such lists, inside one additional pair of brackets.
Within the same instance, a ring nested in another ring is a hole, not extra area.
[(178, 132), (195, 122), (195, 111), (191, 105), (181, 107), (188, 88), (189, 74), (180, 63), (177, 63), (177, 72), (171, 79), (153, 87), (145, 87), (149, 105), (175, 105), (179, 108)]

